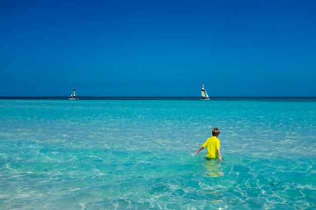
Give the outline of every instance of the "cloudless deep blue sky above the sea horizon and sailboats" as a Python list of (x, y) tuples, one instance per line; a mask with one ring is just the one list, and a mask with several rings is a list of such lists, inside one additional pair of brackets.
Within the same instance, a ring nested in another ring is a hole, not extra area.
[(316, 96), (316, 1), (0, 1), (0, 96)]

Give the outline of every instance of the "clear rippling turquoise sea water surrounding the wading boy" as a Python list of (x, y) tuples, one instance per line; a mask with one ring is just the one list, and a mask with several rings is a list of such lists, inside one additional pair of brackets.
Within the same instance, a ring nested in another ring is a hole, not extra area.
[(0, 209), (315, 209), (315, 161), (313, 100), (0, 100)]

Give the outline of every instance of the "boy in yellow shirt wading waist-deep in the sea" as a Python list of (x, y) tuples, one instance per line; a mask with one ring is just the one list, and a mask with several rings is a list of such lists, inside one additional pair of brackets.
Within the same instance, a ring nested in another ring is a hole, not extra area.
[(194, 155), (196, 155), (198, 152), (203, 150), (204, 148), (207, 147), (207, 158), (210, 159), (217, 159), (219, 158), (220, 161), (222, 161), (222, 155), (221, 155), (221, 144), (220, 144), (220, 139), (217, 137), (220, 134), (219, 128), (213, 128), (212, 130), (212, 137), (207, 138), (206, 142), (197, 150), (194, 152)]

